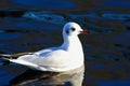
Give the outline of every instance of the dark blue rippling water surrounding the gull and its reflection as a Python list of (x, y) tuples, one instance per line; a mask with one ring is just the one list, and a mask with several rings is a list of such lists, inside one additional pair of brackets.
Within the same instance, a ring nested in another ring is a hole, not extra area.
[[(60, 45), (62, 27), (72, 20), (91, 32), (79, 35), (86, 56), (82, 86), (130, 86), (129, 0), (0, 0), (0, 53), (36, 52)], [(26, 70), (0, 62), (0, 86)], [(41, 84), (25, 86), (32, 85)]]

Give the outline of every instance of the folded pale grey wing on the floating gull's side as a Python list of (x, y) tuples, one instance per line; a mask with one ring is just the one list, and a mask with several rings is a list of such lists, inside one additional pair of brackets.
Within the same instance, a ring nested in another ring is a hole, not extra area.
[(40, 67), (63, 67), (68, 64), (67, 62), (64, 64), (65, 61), (69, 56), (67, 56), (66, 52), (63, 49), (43, 49), (34, 55), (25, 55), (18, 58), (18, 60), (24, 60), (27, 62), (31, 62), (34, 64)]

